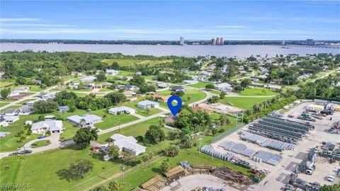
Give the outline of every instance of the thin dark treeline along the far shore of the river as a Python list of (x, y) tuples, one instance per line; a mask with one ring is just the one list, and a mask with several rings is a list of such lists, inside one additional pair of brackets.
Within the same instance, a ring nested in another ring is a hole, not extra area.
[[(89, 45), (179, 45), (179, 40), (40, 40), (40, 39), (1, 39), (1, 43), (61, 43)], [(315, 42), (337, 42), (322, 40)], [(187, 45), (210, 45), (210, 40), (186, 40)], [(225, 40), (225, 45), (281, 45), (282, 40)], [(305, 40), (285, 40), (285, 44), (303, 45)]]

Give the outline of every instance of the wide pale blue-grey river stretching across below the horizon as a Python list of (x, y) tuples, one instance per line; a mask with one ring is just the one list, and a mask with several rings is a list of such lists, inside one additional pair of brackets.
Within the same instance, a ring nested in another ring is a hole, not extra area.
[(45, 50), (47, 52), (79, 51), (79, 52), (107, 52), (122, 53), (128, 55), (145, 54), (154, 56), (216, 56), (216, 57), (250, 57), (251, 55), (268, 54), (268, 57), (275, 57), (276, 54), (318, 54), (332, 53), (340, 54), (340, 49), (322, 47), (290, 47), (281, 48), (278, 45), (73, 45), (73, 44), (33, 44), (33, 43), (1, 43), (0, 51), (23, 51), (33, 50), (34, 52)]

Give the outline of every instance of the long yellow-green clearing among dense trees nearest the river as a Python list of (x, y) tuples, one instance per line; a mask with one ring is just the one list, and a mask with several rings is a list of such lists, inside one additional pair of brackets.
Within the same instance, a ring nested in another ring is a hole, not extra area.
[(101, 62), (104, 62), (106, 64), (112, 64), (113, 62), (118, 62), (120, 66), (130, 66), (134, 64), (165, 64), (165, 63), (172, 63), (172, 59), (168, 60), (151, 60), (151, 59), (103, 59)]

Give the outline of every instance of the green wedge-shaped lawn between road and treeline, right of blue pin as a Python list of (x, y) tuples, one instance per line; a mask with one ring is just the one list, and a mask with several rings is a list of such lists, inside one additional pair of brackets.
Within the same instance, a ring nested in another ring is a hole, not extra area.
[(232, 105), (237, 108), (242, 108), (245, 110), (250, 110), (253, 108), (255, 103), (261, 103), (264, 100), (269, 100), (271, 98), (242, 98), (242, 97), (225, 97), (222, 100), (219, 100), (220, 103), (224, 103), (227, 105)]

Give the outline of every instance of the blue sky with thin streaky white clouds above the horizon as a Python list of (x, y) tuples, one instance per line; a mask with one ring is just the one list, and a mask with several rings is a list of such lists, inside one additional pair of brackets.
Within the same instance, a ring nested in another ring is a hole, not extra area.
[(340, 40), (340, 1), (0, 1), (1, 39)]

